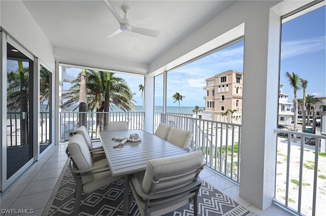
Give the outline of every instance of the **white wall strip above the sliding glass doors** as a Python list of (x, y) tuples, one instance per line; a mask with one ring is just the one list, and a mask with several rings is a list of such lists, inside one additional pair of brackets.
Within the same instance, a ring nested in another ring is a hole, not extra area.
[(1, 27), (53, 72), (53, 46), (21, 1), (0, 1)]

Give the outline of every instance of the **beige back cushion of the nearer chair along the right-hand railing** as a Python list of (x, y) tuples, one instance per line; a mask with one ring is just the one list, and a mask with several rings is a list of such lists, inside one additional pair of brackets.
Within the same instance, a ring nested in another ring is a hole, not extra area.
[(171, 128), (171, 132), (167, 141), (183, 149), (189, 149), (189, 144), (190, 141), (192, 140), (192, 137), (193, 137), (193, 133), (190, 131)]

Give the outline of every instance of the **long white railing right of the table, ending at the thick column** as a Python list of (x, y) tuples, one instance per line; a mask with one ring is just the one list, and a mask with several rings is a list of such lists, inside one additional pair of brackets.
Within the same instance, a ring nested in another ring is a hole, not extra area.
[(190, 147), (204, 152), (206, 167), (239, 183), (241, 125), (178, 113), (155, 113), (154, 131), (159, 122), (193, 132)]

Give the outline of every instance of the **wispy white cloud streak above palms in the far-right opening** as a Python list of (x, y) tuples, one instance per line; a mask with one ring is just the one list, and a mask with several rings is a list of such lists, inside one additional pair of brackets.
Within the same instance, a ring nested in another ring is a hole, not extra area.
[(281, 47), (281, 58), (289, 58), (325, 50), (325, 36), (305, 40), (285, 41)]

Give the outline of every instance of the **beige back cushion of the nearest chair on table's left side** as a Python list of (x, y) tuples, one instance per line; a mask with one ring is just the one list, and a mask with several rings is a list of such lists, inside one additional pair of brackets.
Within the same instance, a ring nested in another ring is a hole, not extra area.
[[(89, 169), (93, 167), (91, 152), (88, 149), (85, 139), (80, 134), (75, 134), (68, 142), (68, 151), (71, 159), (78, 170)], [(82, 182), (87, 183), (93, 180), (92, 175), (83, 175)]]

